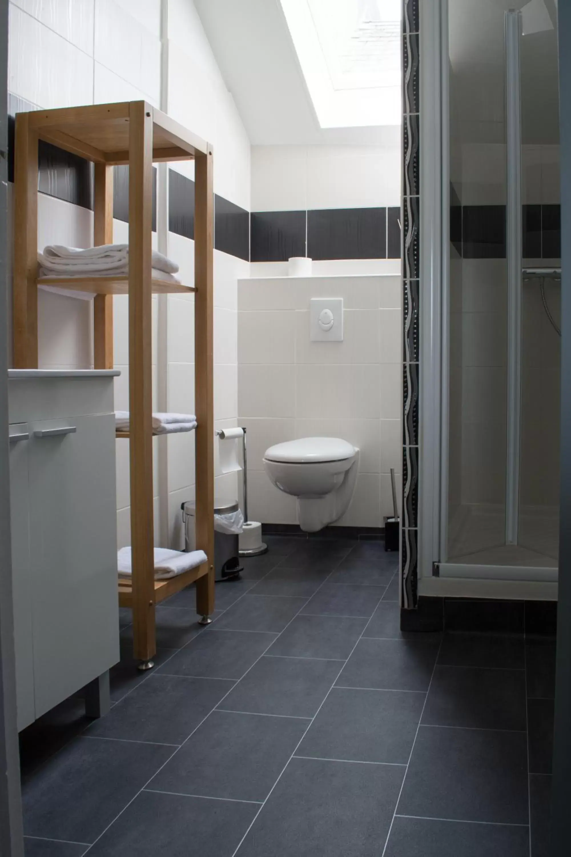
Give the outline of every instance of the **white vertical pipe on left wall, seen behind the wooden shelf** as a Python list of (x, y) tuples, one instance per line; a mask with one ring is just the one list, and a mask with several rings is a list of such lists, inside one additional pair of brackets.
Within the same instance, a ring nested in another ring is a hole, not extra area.
[[(160, 109), (169, 111), (169, 0), (161, 0), (161, 97)], [(157, 171), (157, 244), (158, 251), (169, 255), (169, 167), (158, 164)], [(157, 405), (169, 410), (169, 296), (157, 300)], [(160, 543), (169, 546), (169, 438), (158, 443), (158, 531)], [(178, 545), (175, 546), (178, 548)]]

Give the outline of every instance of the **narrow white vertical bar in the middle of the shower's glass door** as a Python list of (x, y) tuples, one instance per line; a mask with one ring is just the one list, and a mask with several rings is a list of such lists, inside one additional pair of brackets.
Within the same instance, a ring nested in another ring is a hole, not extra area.
[(505, 13), (508, 256), (508, 436), (506, 544), (517, 544), (521, 421), (521, 100), (519, 11)]

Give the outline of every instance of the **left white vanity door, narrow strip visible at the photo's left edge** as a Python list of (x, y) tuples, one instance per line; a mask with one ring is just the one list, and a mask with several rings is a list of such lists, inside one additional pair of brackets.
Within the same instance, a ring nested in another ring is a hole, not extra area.
[(9, 427), (12, 601), (18, 729), (35, 720), (27, 424)]

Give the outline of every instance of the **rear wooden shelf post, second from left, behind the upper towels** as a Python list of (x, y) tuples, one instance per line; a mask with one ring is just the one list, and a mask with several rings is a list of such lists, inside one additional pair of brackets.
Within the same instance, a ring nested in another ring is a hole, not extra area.
[[(113, 167), (94, 164), (93, 246), (113, 243)], [(113, 296), (93, 298), (93, 368), (113, 369)]]

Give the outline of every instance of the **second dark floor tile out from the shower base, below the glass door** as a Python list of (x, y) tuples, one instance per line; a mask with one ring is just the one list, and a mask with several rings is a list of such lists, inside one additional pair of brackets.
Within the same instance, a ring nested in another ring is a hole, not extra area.
[(516, 669), (437, 665), (422, 722), (526, 731), (526, 674)]

